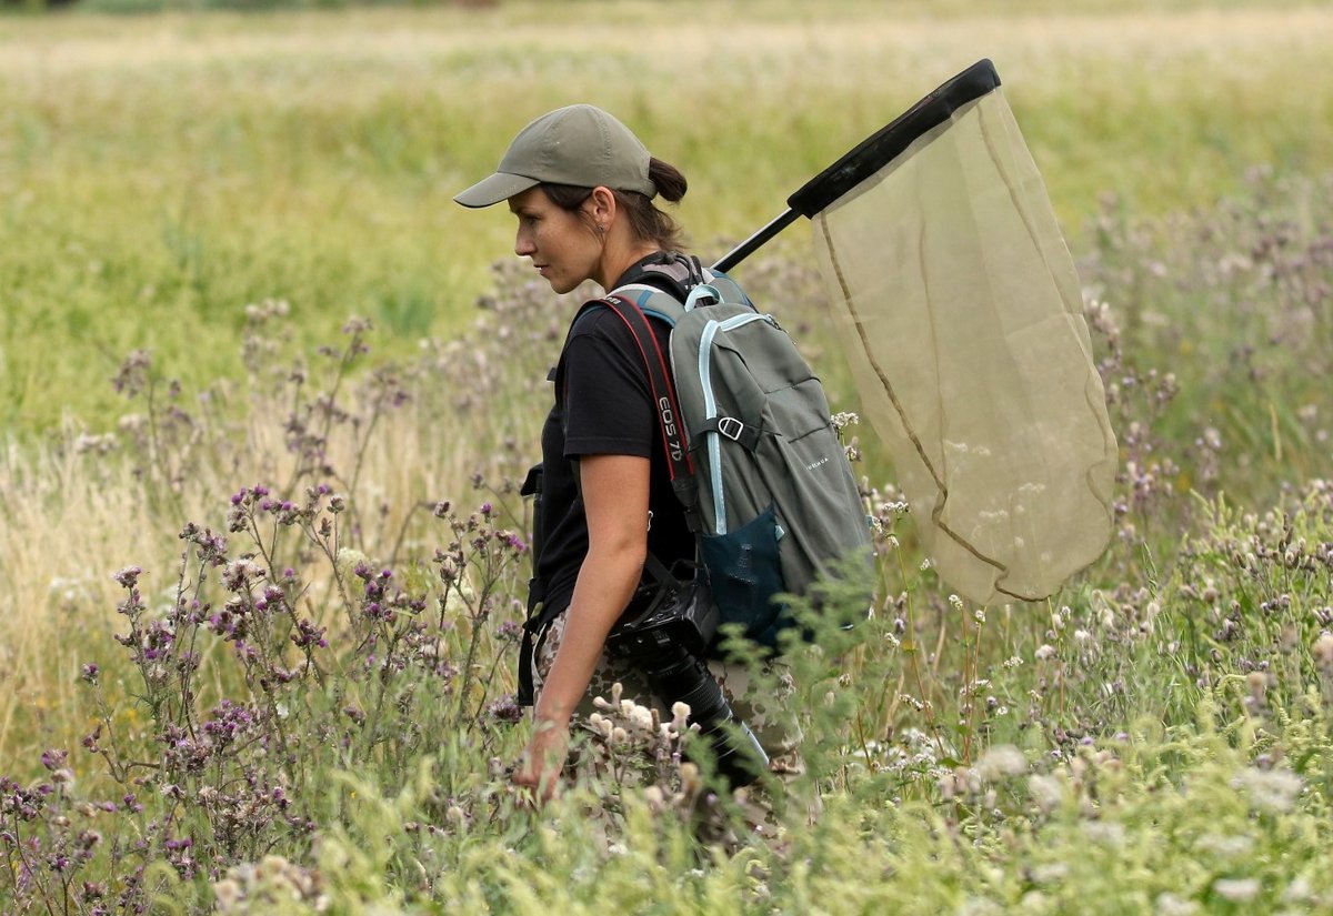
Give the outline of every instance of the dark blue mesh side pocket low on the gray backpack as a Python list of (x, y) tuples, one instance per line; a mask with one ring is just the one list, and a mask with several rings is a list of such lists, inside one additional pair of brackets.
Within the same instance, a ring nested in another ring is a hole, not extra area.
[(772, 506), (736, 531), (700, 538), (721, 623), (740, 623), (746, 638), (765, 644), (776, 639), (769, 631), (782, 612), (773, 596), (786, 590), (777, 538), (777, 515)]

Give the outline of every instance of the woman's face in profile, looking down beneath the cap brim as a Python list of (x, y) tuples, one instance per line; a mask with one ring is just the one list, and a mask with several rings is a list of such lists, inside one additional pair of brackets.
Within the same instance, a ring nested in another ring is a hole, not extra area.
[(515, 254), (531, 258), (552, 290), (568, 293), (596, 274), (603, 245), (583, 210), (556, 206), (541, 188), (511, 197), (509, 210), (519, 217)]

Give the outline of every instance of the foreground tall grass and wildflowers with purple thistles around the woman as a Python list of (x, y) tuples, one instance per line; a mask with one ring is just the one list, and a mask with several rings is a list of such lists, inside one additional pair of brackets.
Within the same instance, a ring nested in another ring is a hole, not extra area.
[[(460, 340), (373, 371), (363, 322), (303, 351), (268, 302), (248, 313), (247, 371), (203, 401), (133, 354), (116, 433), (71, 429), (3, 465), (0, 901), (1326, 908), (1333, 490), (1305, 362), (1322, 349), (1242, 318), (1256, 296), (1276, 328), (1324, 314), (1330, 224), (1286, 214), (1328, 213), (1329, 190), (1256, 174), (1196, 216), (1101, 226), (1084, 278), (1124, 445), (1117, 537), (1050, 602), (952, 598), (876, 483), (882, 457), (865, 462), (874, 608), (850, 631), (812, 619), (818, 648), (793, 647), (789, 680), (754, 672), (805, 736), (805, 771), (757, 796), (714, 795), (670, 723), (613, 703), (552, 808), (508, 788), (519, 443), (577, 297), (503, 269)], [(1162, 234), (1170, 269), (1140, 277)], [(1281, 269), (1260, 257), (1273, 245)], [(752, 296), (826, 362), (812, 290), (788, 258), (750, 268)], [(1252, 359), (1178, 365), (1177, 324)], [(1252, 365), (1313, 407), (1285, 462), (1237, 442), (1264, 435)], [(1237, 413), (1214, 418), (1218, 397)]]

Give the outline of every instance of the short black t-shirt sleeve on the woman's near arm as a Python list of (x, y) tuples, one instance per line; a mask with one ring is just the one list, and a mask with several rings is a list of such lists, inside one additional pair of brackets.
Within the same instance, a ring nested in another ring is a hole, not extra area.
[(565, 347), (565, 457), (636, 455), (653, 445), (652, 397), (633, 336), (609, 312)]

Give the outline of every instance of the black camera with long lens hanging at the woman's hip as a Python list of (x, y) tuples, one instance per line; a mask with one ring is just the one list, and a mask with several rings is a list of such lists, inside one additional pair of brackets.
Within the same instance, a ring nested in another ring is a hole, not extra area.
[(717, 622), (717, 604), (705, 583), (655, 586), (648, 607), (607, 636), (607, 651), (643, 672), (668, 707), (689, 706), (689, 723), (708, 739), (717, 772), (734, 788), (756, 782), (768, 770), (768, 755), (708, 670), (705, 655)]

